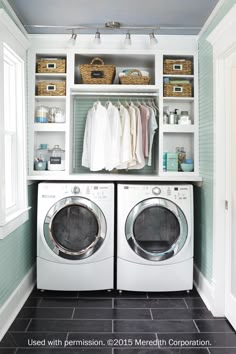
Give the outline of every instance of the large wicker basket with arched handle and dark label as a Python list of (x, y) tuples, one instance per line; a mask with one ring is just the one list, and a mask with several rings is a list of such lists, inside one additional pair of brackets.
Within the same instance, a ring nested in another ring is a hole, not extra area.
[(83, 84), (112, 84), (116, 74), (115, 65), (105, 65), (98, 57), (93, 58), (90, 64), (79, 65), (79, 69)]

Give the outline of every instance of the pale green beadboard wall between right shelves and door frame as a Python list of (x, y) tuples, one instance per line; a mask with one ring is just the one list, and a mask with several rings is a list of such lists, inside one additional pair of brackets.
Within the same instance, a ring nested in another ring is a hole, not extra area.
[(199, 39), (199, 156), (202, 188), (195, 187), (195, 264), (211, 282), (213, 260), (213, 53), (206, 38), (235, 5), (226, 0)]

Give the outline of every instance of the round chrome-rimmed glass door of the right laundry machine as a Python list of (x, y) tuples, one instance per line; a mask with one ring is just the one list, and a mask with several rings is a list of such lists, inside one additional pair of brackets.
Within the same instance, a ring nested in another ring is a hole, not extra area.
[(149, 198), (129, 213), (125, 225), (126, 239), (135, 253), (151, 261), (176, 255), (188, 236), (183, 211), (164, 198)]

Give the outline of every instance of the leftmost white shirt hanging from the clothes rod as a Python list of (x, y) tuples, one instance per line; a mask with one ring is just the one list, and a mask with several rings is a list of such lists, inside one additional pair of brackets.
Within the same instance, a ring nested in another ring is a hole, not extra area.
[(107, 109), (97, 101), (88, 111), (82, 154), (82, 166), (91, 171), (100, 171), (109, 162), (111, 135)]

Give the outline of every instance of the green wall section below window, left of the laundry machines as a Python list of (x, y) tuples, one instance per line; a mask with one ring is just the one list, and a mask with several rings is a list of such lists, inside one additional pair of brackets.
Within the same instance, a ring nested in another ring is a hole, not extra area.
[(28, 186), (30, 218), (0, 240), (0, 306), (17, 288), (36, 260), (37, 184)]

